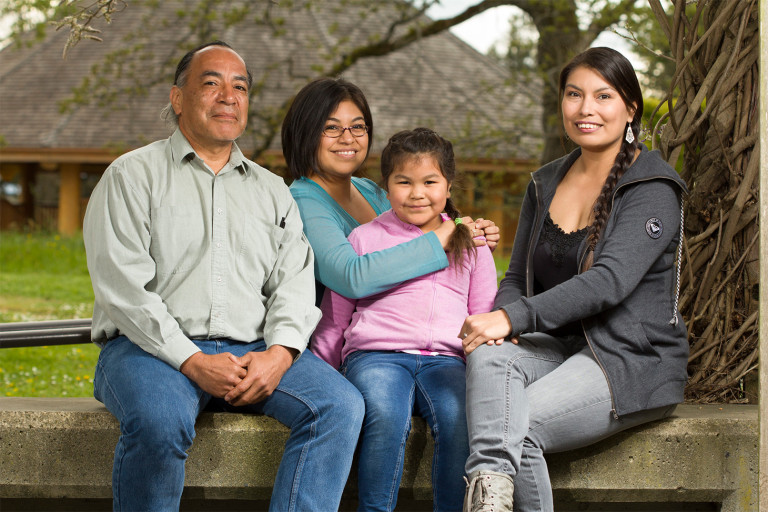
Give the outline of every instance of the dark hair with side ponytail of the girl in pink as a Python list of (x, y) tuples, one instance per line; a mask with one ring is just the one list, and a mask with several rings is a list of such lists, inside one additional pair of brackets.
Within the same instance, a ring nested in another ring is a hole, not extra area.
[[(453, 156), (453, 144), (429, 128), (415, 128), (394, 134), (382, 150), (381, 179), (384, 188), (388, 189), (389, 177), (395, 169), (404, 165), (408, 160), (425, 156), (434, 159), (438, 169), (440, 169), (449, 185), (456, 181), (456, 161)], [(459, 210), (453, 204), (450, 197), (445, 202), (445, 213), (454, 221), (460, 217)], [(448, 253), (448, 257), (454, 263), (456, 269), (461, 268), (465, 251), (473, 256), (477, 254), (475, 243), (472, 240), (472, 233), (467, 226), (464, 224), (456, 226), (456, 230), (451, 235), (445, 251)]]

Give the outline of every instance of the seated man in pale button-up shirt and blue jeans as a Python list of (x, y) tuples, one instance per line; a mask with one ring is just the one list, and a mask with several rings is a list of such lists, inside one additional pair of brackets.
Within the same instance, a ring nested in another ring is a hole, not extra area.
[(234, 143), (250, 85), (229, 45), (189, 52), (170, 93), (178, 128), (115, 160), (88, 204), (94, 395), (121, 431), (115, 510), (178, 509), (206, 406), (290, 427), (272, 510), (336, 510), (347, 480), (363, 400), (304, 352), (313, 256), (282, 179)]

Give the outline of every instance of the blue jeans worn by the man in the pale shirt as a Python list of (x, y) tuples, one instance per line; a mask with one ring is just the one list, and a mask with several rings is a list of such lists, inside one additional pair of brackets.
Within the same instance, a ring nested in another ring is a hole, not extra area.
[[(266, 349), (263, 341), (205, 340), (195, 344), (206, 354), (242, 356)], [(181, 372), (125, 336), (109, 341), (102, 349), (94, 396), (120, 422), (112, 473), (113, 507), (128, 512), (178, 510), (195, 419), (209, 404), (266, 414), (291, 429), (270, 510), (336, 510), (364, 413), (357, 389), (308, 350), (285, 373), (271, 396), (235, 408), (212, 399)]]

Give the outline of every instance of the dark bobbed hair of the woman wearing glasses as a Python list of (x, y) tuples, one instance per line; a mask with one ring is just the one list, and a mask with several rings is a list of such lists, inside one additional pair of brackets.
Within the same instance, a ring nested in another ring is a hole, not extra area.
[[(363, 91), (342, 78), (318, 78), (305, 85), (293, 99), (282, 127), (285, 163), (293, 179), (310, 173), (323, 175), (317, 165), (317, 148), (328, 117), (339, 103), (350, 100), (363, 113), (368, 126), (368, 153), (373, 143), (373, 118)], [(367, 155), (366, 155), (367, 157)]]

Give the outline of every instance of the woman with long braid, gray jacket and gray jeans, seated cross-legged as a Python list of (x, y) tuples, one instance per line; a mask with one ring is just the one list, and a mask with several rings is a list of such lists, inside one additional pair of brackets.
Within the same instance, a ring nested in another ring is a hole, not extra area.
[(465, 510), (553, 510), (544, 453), (663, 418), (683, 399), (685, 183), (638, 143), (643, 98), (620, 53), (577, 55), (559, 85), (579, 148), (533, 173), (494, 311), (459, 331)]

